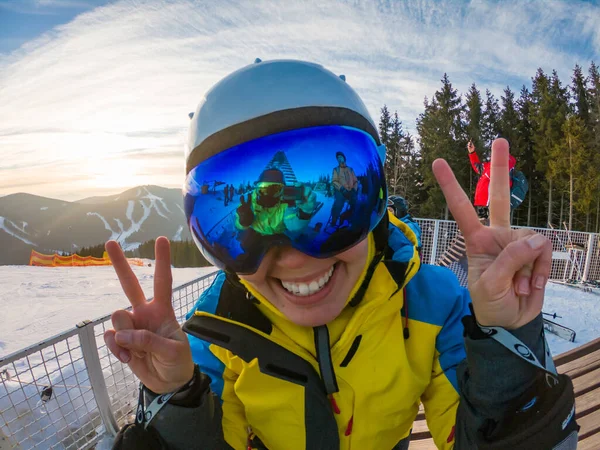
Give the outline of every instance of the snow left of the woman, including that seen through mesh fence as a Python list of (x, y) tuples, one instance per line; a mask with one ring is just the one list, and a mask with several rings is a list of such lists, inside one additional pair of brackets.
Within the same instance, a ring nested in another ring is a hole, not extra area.
[[(154, 261), (143, 261), (144, 267), (132, 269), (146, 295), (152, 296), (154, 268), (148, 263), (154, 266)], [(173, 269), (173, 284), (184, 284), (214, 270)], [(0, 266), (0, 358), (67, 331), (85, 319), (102, 317), (128, 305), (112, 267)], [(96, 340), (102, 343), (101, 336)], [(0, 441), (7, 440), (11, 448), (19, 442), (18, 448), (25, 450), (71, 448), (74, 439), (81, 444), (100, 437), (95, 448), (110, 449), (112, 438), (105, 435), (98, 415), (77, 337), (41, 353), (34, 352), (0, 373), (0, 422), (11, 422), (10, 428), (16, 433), (5, 438), (7, 430), (0, 423)], [(105, 378), (114, 377), (108, 391), (119, 400), (113, 408), (131, 411), (137, 402), (136, 393), (125, 395), (122, 391), (126, 384), (131, 386), (130, 371), (125, 368), (111, 372), (117, 361), (112, 356), (110, 360), (103, 370)], [(52, 386), (52, 396), (43, 403), (40, 393), (46, 386)]]

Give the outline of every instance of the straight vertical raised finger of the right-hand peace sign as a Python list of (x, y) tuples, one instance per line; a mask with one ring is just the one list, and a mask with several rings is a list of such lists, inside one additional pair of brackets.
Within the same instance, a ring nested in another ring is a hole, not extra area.
[(490, 177), (490, 226), (510, 228), (510, 181), (508, 174), (508, 141), (492, 143)]

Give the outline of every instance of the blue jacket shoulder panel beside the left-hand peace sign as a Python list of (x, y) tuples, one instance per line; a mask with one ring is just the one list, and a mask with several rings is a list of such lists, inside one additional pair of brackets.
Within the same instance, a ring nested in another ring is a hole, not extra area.
[[(223, 287), (224, 282), (225, 272), (219, 272), (210, 287), (202, 292), (194, 307), (187, 313), (186, 318), (189, 319), (196, 311), (214, 314), (217, 310), (217, 305), (219, 304), (221, 288)], [(223, 393), (223, 370), (225, 369), (225, 364), (213, 355), (210, 351), (210, 344), (208, 342), (191, 335), (188, 335), (188, 341), (190, 342), (190, 347), (192, 349), (192, 359), (198, 364), (203, 373), (210, 376), (210, 387), (212, 391), (221, 398), (221, 394)]]

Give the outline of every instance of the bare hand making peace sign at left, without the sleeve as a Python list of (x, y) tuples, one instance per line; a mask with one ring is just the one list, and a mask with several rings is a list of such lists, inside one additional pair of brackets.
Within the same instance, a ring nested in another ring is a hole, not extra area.
[(173, 277), (169, 240), (165, 237), (156, 240), (154, 298), (150, 302), (146, 301), (119, 244), (107, 242), (106, 251), (133, 309), (112, 314), (115, 328), (104, 333), (104, 341), (148, 389), (157, 394), (176, 391), (192, 378), (194, 363), (190, 345), (171, 304)]

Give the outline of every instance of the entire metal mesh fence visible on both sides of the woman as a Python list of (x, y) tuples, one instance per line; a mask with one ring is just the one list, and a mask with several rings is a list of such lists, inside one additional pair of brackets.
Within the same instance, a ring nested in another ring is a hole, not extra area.
[[(455, 222), (417, 219), (422, 257), (435, 264), (459, 235)], [(551, 279), (600, 279), (600, 235), (534, 228), (552, 241)], [(466, 273), (451, 267), (466, 284)], [(173, 291), (183, 322), (210, 274)], [(106, 348), (110, 316), (84, 321), (51, 339), (0, 359), (0, 450), (89, 449), (132, 418), (138, 381)]]

